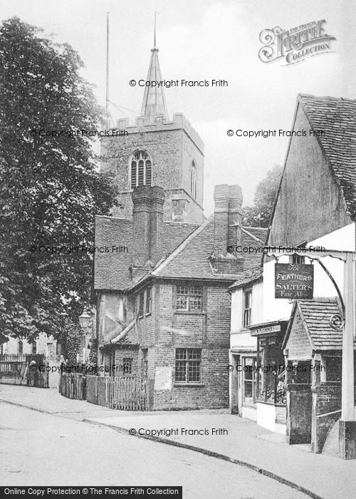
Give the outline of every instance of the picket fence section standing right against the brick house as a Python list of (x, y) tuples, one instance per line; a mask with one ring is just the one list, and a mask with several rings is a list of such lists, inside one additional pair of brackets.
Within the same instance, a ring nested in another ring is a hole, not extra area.
[(87, 376), (87, 401), (122, 411), (153, 408), (153, 380), (144, 376)]

